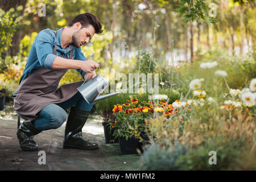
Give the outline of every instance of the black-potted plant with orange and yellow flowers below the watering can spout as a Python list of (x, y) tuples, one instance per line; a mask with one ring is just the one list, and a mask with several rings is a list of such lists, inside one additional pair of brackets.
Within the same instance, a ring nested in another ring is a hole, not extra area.
[(113, 135), (118, 138), (121, 155), (138, 154), (138, 150), (143, 152), (142, 144), (148, 140), (144, 119), (154, 113), (150, 103), (143, 101), (143, 104), (138, 104), (137, 98), (131, 98), (126, 104), (114, 105), (115, 121), (111, 127), (115, 129)]

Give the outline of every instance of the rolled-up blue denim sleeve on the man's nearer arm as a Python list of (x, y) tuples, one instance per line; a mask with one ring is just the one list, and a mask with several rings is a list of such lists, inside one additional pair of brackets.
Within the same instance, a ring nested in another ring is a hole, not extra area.
[(54, 38), (47, 31), (40, 31), (35, 38), (36, 54), (42, 67), (52, 69), (53, 60), (57, 55), (53, 55)]

